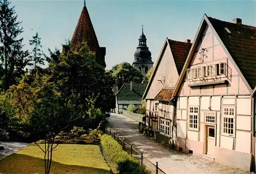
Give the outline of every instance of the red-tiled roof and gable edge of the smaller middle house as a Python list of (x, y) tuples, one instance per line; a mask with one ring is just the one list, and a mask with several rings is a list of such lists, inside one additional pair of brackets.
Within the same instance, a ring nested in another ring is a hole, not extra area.
[(159, 64), (160, 64), (161, 60), (162, 60), (162, 56), (164, 54), (164, 51), (166, 50), (166, 47), (169, 47), (170, 50), (172, 51), (173, 58), (174, 58), (174, 61), (175, 61), (175, 65), (176, 65), (178, 74), (180, 75), (180, 73), (182, 71), (182, 67), (183, 67), (183, 65), (186, 61), (186, 57), (189, 53), (189, 50), (190, 50), (191, 46), (192, 46), (191, 43), (176, 41), (176, 40), (168, 39), (168, 37), (166, 37), (166, 39), (164, 41), (164, 45), (163, 45), (162, 50), (160, 52), (159, 58), (156, 62), (156, 66), (154, 67), (154, 71), (152, 73), (150, 81), (148, 82), (148, 84), (146, 86), (146, 90), (143, 94), (143, 99), (146, 97), (148, 90), (150, 90), (150, 85), (152, 84), (152, 81), (155, 77), (156, 71), (159, 67)]

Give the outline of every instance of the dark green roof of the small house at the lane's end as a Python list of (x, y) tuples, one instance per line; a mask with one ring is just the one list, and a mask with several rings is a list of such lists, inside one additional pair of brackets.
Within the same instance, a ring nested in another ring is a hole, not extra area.
[(133, 83), (131, 91), (131, 83), (124, 83), (120, 90), (116, 93), (117, 100), (120, 101), (141, 101), (142, 95), (146, 89), (147, 83)]

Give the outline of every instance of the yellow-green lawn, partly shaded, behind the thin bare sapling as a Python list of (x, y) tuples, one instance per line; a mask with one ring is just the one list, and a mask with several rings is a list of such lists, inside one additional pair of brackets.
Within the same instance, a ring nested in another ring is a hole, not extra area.
[[(44, 144), (40, 144), (44, 146)], [(44, 153), (35, 144), (0, 160), (0, 173), (44, 173)], [(51, 173), (111, 173), (98, 145), (59, 144), (53, 152)]]

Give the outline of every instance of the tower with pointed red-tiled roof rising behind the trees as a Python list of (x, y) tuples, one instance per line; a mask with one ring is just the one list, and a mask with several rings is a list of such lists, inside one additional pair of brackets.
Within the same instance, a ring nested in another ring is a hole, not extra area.
[(82, 8), (82, 12), (78, 19), (75, 32), (71, 39), (71, 48), (75, 48), (78, 46), (82, 41), (86, 41), (87, 45), (90, 48), (90, 51), (96, 53), (96, 61), (98, 61), (104, 68), (106, 67), (105, 63), (105, 55), (106, 55), (106, 48), (99, 47), (99, 42), (97, 36), (95, 34), (93, 24), (89, 15), (89, 12), (86, 7), (86, 1), (84, 0), (84, 6)]

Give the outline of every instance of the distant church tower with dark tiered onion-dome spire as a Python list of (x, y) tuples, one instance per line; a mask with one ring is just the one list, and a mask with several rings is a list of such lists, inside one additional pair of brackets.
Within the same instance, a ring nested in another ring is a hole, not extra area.
[(152, 61), (151, 52), (146, 46), (146, 36), (144, 35), (142, 25), (142, 34), (139, 38), (139, 46), (134, 53), (133, 67), (139, 69), (143, 76), (145, 76), (148, 70), (153, 67), (153, 64), (154, 62)]

